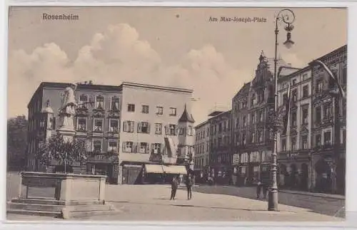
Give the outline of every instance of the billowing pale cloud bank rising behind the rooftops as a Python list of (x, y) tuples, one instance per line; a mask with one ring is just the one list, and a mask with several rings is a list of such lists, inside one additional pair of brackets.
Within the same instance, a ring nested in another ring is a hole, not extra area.
[[(118, 24), (94, 34), (74, 61), (54, 43), (29, 54), (22, 50), (11, 52), (9, 97), (20, 95), (18, 101), (22, 103), (10, 106), (9, 113), (26, 114), (26, 104), (41, 81), (94, 80), (97, 84), (119, 85), (129, 80), (193, 89), (197, 101), (192, 113), (201, 122), (216, 103), (229, 107), (234, 93), (250, 78), (248, 73), (229, 66), (223, 54), (210, 44), (189, 51), (174, 66), (165, 66), (159, 53), (140, 39), (135, 28)], [(19, 82), (23, 84), (17, 85)]]

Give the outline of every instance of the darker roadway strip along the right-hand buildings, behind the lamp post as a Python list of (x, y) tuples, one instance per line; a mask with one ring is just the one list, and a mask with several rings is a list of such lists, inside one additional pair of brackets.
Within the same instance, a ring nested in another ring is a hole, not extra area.
[[(245, 197), (250, 199), (256, 199), (256, 187), (230, 187), (230, 186), (199, 186), (195, 187), (196, 192), (202, 192), (206, 194), (226, 194), (236, 197)], [(328, 196), (318, 197), (306, 195), (306, 194), (292, 194), (293, 191), (279, 192), (278, 199), (279, 204), (291, 205), (294, 207), (302, 207), (305, 209), (311, 209), (312, 211), (320, 214), (326, 214), (329, 216), (344, 217), (345, 200), (341, 199), (342, 196)], [(321, 194), (323, 195), (323, 194)], [(340, 199), (331, 197), (341, 197)]]

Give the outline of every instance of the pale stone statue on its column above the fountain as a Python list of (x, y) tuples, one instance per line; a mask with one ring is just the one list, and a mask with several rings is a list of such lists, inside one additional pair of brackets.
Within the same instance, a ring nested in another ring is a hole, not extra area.
[(74, 91), (77, 85), (71, 84), (64, 90), (61, 97), (61, 109), (60, 109), (60, 130), (73, 130), (74, 131), (74, 115), (76, 115), (76, 99), (74, 97)]

